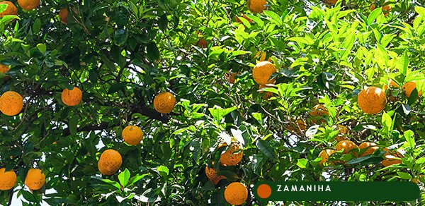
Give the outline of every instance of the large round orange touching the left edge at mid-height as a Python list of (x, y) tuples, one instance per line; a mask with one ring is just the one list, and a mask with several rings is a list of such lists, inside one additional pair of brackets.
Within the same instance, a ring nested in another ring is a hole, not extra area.
[(23, 98), (18, 92), (4, 92), (0, 97), (0, 111), (7, 116), (19, 114), (23, 108)]

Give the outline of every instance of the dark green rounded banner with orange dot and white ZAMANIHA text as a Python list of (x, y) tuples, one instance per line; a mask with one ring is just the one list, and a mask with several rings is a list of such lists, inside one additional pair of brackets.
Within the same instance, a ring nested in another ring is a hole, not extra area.
[(254, 195), (269, 201), (410, 201), (420, 191), (409, 181), (263, 181), (254, 187)]

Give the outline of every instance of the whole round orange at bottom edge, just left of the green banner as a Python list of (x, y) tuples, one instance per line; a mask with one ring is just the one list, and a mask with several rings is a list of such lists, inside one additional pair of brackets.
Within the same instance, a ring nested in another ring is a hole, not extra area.
[(242, 205), (246, 198), (248, 198), (248, 189), (242, 183), (230, 183), (225, 189), (225, 199), (230, 205)]

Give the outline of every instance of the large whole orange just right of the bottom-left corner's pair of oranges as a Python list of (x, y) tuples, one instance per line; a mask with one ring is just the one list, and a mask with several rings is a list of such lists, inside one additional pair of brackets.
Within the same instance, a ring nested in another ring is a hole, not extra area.
[(102, 152), (98, 161), (98, 169), (103, 175), (113, 175), (123, 164), (121, 154), (115, 150), (108, 149)]

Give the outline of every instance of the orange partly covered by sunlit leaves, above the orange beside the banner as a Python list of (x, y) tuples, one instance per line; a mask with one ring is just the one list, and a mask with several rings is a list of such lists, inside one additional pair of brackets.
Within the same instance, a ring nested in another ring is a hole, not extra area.
[[(227, 146), (226, 143), (221, 143), (218, 148)], [(242, 151), (242, 144), (238, 143), (236, 139), (232, 138), (232, 144), (226, 152), (220, 156), (220, 164), (222, 166), (234, 166), (242, 161), (244, 152)]]

